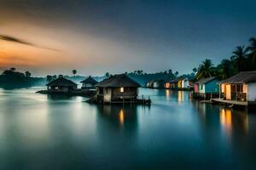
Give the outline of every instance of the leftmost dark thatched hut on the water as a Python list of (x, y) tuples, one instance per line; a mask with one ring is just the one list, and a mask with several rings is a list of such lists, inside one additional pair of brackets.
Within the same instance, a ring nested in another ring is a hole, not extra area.
[(46, 86), (49, 93), (68, 93), (78, 88), (75, 82), (64, 77), (59, 77), (46, 84)]

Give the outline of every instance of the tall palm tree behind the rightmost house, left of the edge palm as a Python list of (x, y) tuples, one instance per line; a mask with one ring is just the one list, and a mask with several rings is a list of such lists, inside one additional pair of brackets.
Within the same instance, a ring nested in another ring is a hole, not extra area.
[(246, 68), (247, 51), (248, 49), (245, 49), (244, 46), (238, 46), (236, 47), (236, 50), (233, 52), (233, 55), (231, 56), (231, 60), (234, 61), (236, 70), (238, 72), (246, 71), (245, 68)]

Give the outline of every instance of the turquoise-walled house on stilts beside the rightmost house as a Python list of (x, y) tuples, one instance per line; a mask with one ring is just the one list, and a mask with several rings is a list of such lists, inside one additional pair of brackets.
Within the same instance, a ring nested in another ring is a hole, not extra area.
[(218, 97), (218, 78), (208, 77), (195, 82), (194, 85), (194, 97), (197, 99), (211, 99)]

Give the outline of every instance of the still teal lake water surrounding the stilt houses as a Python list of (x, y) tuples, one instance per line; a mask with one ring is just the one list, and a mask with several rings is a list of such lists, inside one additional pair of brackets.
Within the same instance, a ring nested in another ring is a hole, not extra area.
[(256, 169), (256, 112), (140, 89), (152, 105), (0, 89), (0, 169)]

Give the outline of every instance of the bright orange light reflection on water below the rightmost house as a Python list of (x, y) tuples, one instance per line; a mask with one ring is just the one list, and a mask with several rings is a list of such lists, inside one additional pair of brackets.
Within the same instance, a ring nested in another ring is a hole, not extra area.
[(232, 114), (230, 110), (222, 109), (219, 113), (220, 123), (225, 128), (227, 133), (231, 133), (232, 130)]

